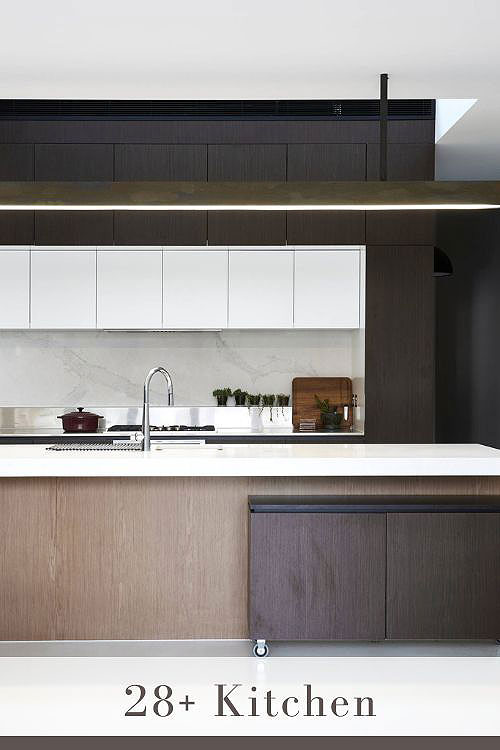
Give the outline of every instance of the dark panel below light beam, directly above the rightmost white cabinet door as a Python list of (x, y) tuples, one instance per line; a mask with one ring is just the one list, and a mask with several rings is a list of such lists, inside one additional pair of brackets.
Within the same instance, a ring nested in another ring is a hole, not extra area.
[(363, 245), (364, 211), (288, 211), (289, 245)]

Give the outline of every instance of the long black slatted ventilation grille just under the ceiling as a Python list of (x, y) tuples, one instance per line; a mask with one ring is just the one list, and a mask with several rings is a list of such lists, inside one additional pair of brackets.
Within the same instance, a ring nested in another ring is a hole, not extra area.
[[(378, 99), (104, 101), (0, 99), (0, 120), (372, 120)], [(392, 99), (389, 119), (433, 120), (434, 99)]]

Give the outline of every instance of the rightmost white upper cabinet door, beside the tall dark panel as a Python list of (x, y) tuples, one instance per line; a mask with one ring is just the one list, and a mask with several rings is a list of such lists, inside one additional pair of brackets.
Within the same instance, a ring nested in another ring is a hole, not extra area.
[(295, 328), (359, 327), (359, 250), (295, 251)]

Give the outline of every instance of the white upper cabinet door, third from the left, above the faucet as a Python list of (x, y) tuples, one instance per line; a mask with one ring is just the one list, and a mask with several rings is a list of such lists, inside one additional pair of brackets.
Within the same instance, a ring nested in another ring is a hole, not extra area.
[(97, 327), (162, 327), (162, 251), (97, 251)]

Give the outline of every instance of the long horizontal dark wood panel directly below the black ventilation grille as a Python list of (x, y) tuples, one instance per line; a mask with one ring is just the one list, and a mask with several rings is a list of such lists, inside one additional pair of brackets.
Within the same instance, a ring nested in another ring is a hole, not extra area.
[[(378, 143), (376, 121), (0, 122), (0, 143)], [(434, 143), (432, 120), (389, 122), (390, 143)]]

